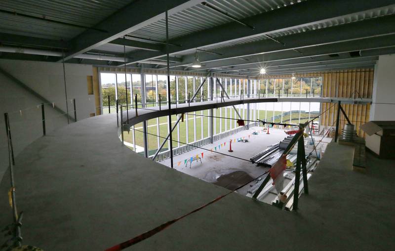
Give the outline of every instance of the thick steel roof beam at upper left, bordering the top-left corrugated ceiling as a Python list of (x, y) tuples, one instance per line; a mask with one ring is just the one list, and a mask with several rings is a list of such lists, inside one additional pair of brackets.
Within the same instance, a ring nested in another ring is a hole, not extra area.
[(200, 1), (201, 0), (133, 1), (92, 27), (94, 29), (107, 30), (107, 33), (90, 29), (73, 38), (70, 41), (72, 46), (71, 50), (67, 53), (65, 60), (163, 19), (166, 9), (169, 15), (172, 15), (196, 5)]

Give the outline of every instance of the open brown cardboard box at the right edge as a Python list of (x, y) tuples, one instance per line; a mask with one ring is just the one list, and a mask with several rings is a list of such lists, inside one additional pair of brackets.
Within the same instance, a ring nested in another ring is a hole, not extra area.
[(366, 132), (366, 147), (383, 159), (395, 159), (395, 121), (370, 121), (360, 127)]

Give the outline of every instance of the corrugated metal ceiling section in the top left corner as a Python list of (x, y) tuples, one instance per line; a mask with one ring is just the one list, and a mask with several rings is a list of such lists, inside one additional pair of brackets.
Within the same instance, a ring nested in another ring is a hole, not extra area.
[[(1, 0), (0, 9), (92, 27), (133, 0)], [(69, 40), (84, 29), (0, 13), (2, 32)]]

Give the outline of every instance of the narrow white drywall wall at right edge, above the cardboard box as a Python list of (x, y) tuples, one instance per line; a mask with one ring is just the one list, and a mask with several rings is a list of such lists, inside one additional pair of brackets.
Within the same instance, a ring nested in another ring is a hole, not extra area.
[(379, 56), (373, 79), (371, 121), (394, 121), (395, 105), (395, 55)]

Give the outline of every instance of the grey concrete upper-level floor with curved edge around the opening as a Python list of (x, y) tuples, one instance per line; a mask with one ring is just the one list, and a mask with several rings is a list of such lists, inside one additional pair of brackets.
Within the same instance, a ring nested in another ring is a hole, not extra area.
[[(328, 145), (297, 212), (233, 193), (130, 250), (394, 250), (395, 162), (368, 155), (358, 173), (353, 151)], [(229, 191), (121, 146), (114, 115), (42, 137), (16, 163), (24, 244), (44, 250), (104, 250)], [(5, 176), (0, 226), (8, 188)]]

